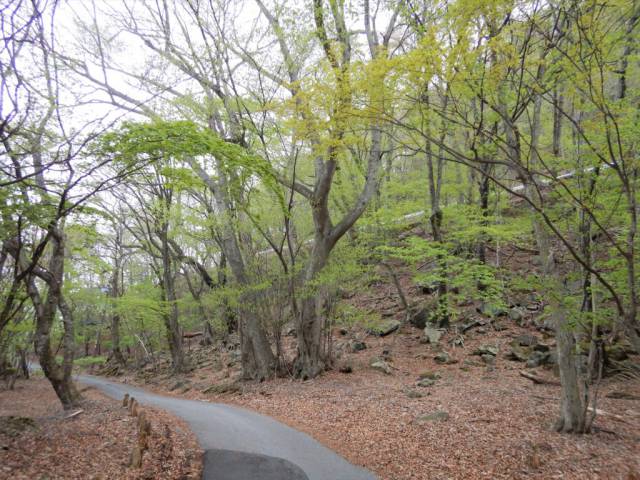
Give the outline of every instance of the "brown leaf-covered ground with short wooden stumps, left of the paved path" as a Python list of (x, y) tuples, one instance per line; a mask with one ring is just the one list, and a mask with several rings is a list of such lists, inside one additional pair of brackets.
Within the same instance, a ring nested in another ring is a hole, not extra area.
[(198, 479), (202, 452), (183, 422), (144, 408), (151, 423), (141, 468), (129, 468), (137, 418), (120, 402), (83, 389), (82, 412), (63, 411), (43, 378), (0, 390), (0, 479)]

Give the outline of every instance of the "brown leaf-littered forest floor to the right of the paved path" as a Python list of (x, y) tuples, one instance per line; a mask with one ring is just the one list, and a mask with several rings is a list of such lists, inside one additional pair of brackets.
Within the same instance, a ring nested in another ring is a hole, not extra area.
[[(381, 480), (640, 479), (637, 380), (602, 382), (593, 434), (558, 434), (551, 429), (558, 386), (533, 384), (520, 376), (521, 363), (502, 354), (495, 366), (472, 355), (487, 343), (505, 352), (514, 337), (531, 330), (514, 325), (500, 332), (470, 332), (464, 346), (448, 350), (456, 362), (448, 365), (434, 361), (438, 349), (420, 343), (416, 332), (410, 326), (382, 338), (351, 332), (347, 335), (367, 345), (364, 351), (343, 355), (341, 363), (353, 371), (333, 370), (305, 382), (235, 382), (236, 365), (217, 369), (209, 362), (179, 379), (147, 372), (123, 380), (270, 415)], [(191, 352), (193, 361), (215, 355), (211, 349)], [(370, 367), (371, 357), (381, 356), (387, 358), (390, 374)], [(219, 367), (225, 361), (213, 363)], [(550, 371), (533, 372), (554, 380)], [(434, 376), (440, 378), (433, 385), (417, 386), (420, 377)], [(228, 392), (213, 393), (220, 390)]]

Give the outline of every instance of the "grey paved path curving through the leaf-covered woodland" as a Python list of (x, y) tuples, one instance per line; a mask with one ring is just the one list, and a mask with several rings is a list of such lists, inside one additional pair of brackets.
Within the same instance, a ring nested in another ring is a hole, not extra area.
[(140, 403), (184, 419), (205, 452), (205, 480), (376, 480), (309, 435), (243, 408), (164, 397), (141, 388), (80, 375), (77, 379), (121, 399), (125, 393)]

